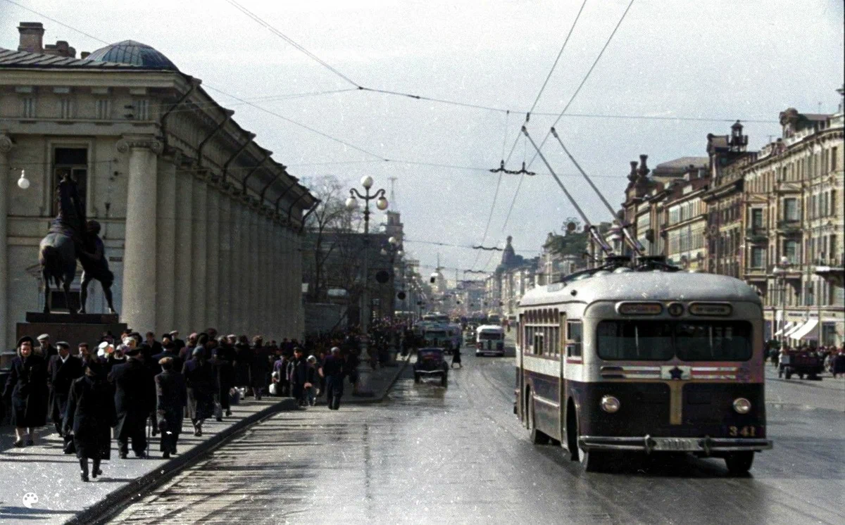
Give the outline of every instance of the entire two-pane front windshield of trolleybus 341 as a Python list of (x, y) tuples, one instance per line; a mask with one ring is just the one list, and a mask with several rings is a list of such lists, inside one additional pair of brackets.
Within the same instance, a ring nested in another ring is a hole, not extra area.
[(744, 361), (751, 357), (751, 324), (744, 321), (602, 321), (603, 360)]

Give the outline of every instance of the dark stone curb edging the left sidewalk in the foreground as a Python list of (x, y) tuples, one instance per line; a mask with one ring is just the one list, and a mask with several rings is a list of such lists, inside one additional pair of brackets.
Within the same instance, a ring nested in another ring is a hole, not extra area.
[(172, 458), (169, 462), (155, 468), (153, 471), (144, 474), (138, 479), (123, 485), (123, 487), (112, 491), (101, 501), (97, 501), (94, 505), (87, 507), (70, 518), (68, 525), (82, 525), (88, 523), (102, 523), (109, 518), (122, 511), (132, 501), (139, 500), (144, 497), (150, 490), (156, 486), (171, 479), (178, 474), (183, 468), (188, 467), (193, 463), (197, 463), (202, 457), (215, 448), (225, 444), (226, 441), (231, 440), (235, 435), (242, 430), (246, 430), (249, 426), (255, 425), (260, 421), (269, 418), (272, 415), (280, 412), (298, 410), (297, 401), (292, 398), (282, 399), (280, 402), (272, 404), (267, 408), (256, 412), (241, 419), (234, 425), (221, 430), (208, 440), (199, 443), (188, 452), (180, 454), (178, 457)]

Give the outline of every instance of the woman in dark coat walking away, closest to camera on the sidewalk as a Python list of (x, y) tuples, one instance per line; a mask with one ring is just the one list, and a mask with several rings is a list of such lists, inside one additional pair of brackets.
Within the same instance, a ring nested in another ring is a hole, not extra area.
[(79, 474), (88, 481), (88, 460), (94, 460), (91, 474), (96, 478), (102, 471), (100, 462), (112, 457), (112, 426), (117, 421), (112, 387), (106, 381), (103, 365), (88, 360), (85, 376), (70, 385), (68, 407), (64, 414), (64, 435), (74, 434)]

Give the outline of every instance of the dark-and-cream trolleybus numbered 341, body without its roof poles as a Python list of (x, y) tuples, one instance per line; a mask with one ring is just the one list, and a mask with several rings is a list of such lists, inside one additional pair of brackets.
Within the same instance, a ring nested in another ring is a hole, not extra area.
[(515, 411), (586, 470), (640, 451), (745, 473), (771, 448), (762, 325), (755, 290), (722, 275), (620, 267), (537, 287), (519, 307)]

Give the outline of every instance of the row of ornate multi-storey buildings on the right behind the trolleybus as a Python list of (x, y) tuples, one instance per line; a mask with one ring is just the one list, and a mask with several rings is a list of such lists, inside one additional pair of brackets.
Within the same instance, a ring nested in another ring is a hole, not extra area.
[[(766, 338), (841, 345), (842, 104), (830, 115), (789, 108), (780, 121), (782, 137), (760, 151), (747, 151), (739, 122), (728, 135), (708, 135), (706, 170), (690, 162), (650, 176), (641, 155), (631, 162), (622, 221), (646, 255), (754, 286), (765, 305)], [(684, 159), (698, 158), (664, 165)]]

